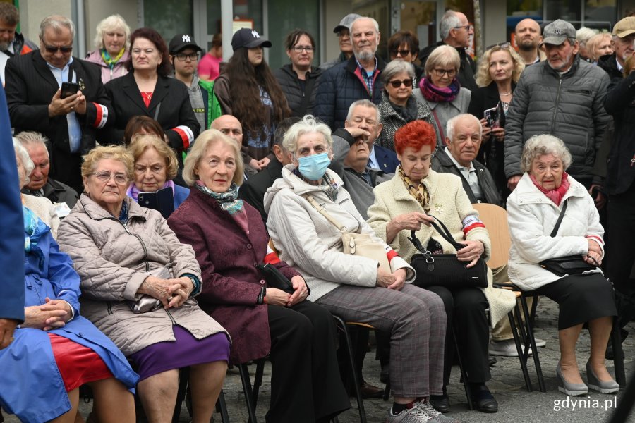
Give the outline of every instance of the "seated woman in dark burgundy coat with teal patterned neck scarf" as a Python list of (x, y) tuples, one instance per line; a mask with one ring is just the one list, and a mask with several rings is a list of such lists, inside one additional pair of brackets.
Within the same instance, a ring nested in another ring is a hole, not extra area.
[[(327, 422), (350, 407), (333, 319), (305, 301), (304, 279), (270, 249), (260, 213), (238, 200), (243, 166), (234, 140), (217, 130), (201, 133), (183, 170), (190, 195), (168, 223), (181, 243), (194, 248), (204, 279), (198, 302), (229, 331), (231, 362), (270, 356), (267, 422)], [(267, 286), (256, 267), (263, 262), (289, 278), (293, 290)]]

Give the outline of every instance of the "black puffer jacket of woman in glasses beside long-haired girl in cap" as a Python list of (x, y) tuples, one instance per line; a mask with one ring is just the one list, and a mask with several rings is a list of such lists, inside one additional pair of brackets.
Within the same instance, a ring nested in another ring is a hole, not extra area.
[[(311, 68), (310, 72), (306, 73), (306, 85), (304, 92), (301, 87), (300, 78), (298, 74), (294, 72), (294, 69), (290, 64), (282, 66), (282, 68), (274, 71), (274, 76), (278, 80), (286, 102), (289, 103), (289, 109), (291, 109), (291, 116), (303, 117), (306, 114), (313, 113), (313, 106), (315, 106), (315, 94), (317, 93), (317, 85), (320, 84), (320, 76), (322, 76), (322, 69)], [(308, 97), (306, 106), (302, 106), (304, 97)]]

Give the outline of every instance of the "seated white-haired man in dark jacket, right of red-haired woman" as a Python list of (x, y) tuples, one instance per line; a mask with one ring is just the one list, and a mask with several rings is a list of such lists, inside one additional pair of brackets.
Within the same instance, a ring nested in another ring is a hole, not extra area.
[(503, 207), (490, 171), (476, 160), (482, 137), (483, 126), (476, 116), (454, 116), (447, 121), (447, 146), (435, 153), (432, 168), (459, 176), (472, 204), (485, 202)]

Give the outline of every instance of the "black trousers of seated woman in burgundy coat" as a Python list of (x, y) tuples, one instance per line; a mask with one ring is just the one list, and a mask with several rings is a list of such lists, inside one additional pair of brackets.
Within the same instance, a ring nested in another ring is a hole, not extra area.
[(271, 333), (268, 423), (320, 422), (351, 407), (335, 355), (332, 315), (308, 300), (267, 307)]

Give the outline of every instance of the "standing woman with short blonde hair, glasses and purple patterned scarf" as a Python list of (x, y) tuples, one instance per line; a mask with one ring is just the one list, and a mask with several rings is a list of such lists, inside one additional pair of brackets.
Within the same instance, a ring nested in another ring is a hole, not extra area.
[(437, 47), (425, 61), (425, 77), (419, 82), (415, 99), (430, 107), (433, 125), (437, 133), (437, 147), (445, 145), (445, 125), (456, 115), (466, 113), (470, 105), (471, 91), (461, 87), (457, 75), (461, 57), (454, 47)]

